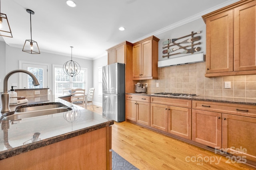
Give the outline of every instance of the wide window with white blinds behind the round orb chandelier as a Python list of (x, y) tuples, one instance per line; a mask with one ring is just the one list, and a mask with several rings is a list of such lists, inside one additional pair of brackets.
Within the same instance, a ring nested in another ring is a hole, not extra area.
[(87, 68), (81, 68), (80, 73), (74, 77), (64, 73), (62, 66), (54, 66), (54, 93), (62, 94), (63, 88), (87, 89)]

